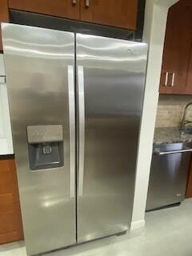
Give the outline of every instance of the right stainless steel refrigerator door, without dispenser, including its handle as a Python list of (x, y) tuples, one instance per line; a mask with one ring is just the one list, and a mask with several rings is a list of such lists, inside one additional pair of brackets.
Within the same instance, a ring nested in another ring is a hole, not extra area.
[(147, 46), (77, 34), (78, 242), (129, 229)]

